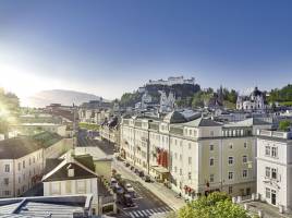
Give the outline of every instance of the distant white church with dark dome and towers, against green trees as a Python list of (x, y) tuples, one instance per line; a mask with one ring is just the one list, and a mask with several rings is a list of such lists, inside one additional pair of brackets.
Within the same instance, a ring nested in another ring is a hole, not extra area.
[(239, 96), (236, 100), (238, 110), (264, 110), (266, 109), (264, 94), (257, 87), (250, 96)]

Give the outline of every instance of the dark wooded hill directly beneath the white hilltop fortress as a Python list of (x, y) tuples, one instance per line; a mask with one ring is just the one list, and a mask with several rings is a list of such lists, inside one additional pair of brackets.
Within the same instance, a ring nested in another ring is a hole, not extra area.
[[(160, 94), (159, 90), (165, 90), (167, 95), (172, 92), (177, 99), (185, 99), (192, 97), (195, 93), (200, 90), (199, 85), (195, 84), (174, 84), (171, 86), (167, 85), (146, 85), (145, 89), (153, 97), (154, 102), (159, 102)], [(121, 97), (120, 105), (123, 107), (134, 107), (134, 105), (141, 101), (143, 93), (125, 93)]]

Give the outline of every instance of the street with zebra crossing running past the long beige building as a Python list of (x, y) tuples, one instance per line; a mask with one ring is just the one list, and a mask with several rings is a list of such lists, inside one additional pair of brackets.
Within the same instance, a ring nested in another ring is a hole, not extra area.
[[(87, 137), (86, 131), (82, 130), (77, 135), (78, 146), (98, 146), (107, 155), (113, 155), (114, 146), (110, 143), (92, 140)], [(125, 218), (146, 218), (151, 215), (161, 215), (165, 217), (167, 213), (171, 211), (166, 203), (163, 203), (159, 197), (157, 197), (151, 191), (146, 189), (143, 183), (145, 183), (138, 175), (136, 175), (130, 168), (126, 168), (122, 161), (113, 159), (112, 168), (117, 170), (118, 173), (135, 190), (136, 197), (133, 199), (135, 203), (134, 207), (124, 207), (121, 204), (117, 204), (120, 214), (117, 217)]]

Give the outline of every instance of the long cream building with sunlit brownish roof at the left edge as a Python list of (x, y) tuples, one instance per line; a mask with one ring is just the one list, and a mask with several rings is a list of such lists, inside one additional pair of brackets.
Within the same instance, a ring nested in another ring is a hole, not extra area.
[(72, 138), (44, 132), (0, 142), (0, 197), (16, 197), (40, 181), (46, 158), (72, 148)]

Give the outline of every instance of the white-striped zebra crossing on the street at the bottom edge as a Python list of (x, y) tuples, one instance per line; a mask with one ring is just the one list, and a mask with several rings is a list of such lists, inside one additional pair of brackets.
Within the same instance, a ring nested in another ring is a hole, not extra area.
[(158, 207), (151, 209), (137, 209), (129, 211), (131, 218), (141, 218), (141, 217), (165, 217), (166, 214), (172, 211), (170, 207)]

